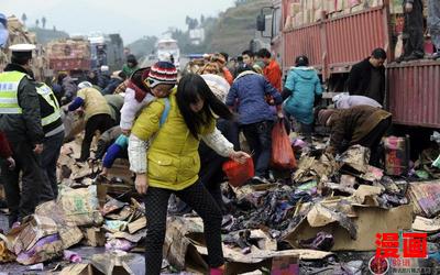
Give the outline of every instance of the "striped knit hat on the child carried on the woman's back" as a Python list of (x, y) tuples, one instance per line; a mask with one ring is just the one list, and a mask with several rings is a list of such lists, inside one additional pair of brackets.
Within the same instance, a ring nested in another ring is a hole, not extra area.
[(169, 62), (157, 62), (151, 67), (147, 81), (150, 88), (154, 88), (160, 84), (176, 85), (177, 69)]

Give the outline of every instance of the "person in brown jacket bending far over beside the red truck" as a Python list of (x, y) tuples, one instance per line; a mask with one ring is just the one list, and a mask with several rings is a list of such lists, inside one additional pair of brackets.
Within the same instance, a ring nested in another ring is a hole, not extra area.
[(318, 122), (330, 128), (329, 153), (342, 153), (351, 145), (371, 150), (370, 164), (380, 162), (378, 145), (392, 124), (392, 114), (371, 106), (356, 106), (344, 110), (321, 110)]

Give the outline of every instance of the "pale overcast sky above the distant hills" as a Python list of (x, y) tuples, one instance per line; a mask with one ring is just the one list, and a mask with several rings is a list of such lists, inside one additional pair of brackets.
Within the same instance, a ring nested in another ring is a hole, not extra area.
[(120, 33), (124, 43), (144, 35), (161, 36), (169, 26), (186, 30), (185, 18), (217, 15), (234, 0), (0, 0), (0, 12), (26, 13), (28, 26), (45, 16), (53, 25), (70, 34), (90, 32)]

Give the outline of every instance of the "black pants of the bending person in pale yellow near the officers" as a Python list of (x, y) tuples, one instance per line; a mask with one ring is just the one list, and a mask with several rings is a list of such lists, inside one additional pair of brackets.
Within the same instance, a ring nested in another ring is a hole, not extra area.
[(90, 144), (94, 140), (95, 132), (99, 130), (99, 132), (103, 133), (110, 128), (114, 125), (114, 121), (110, 114), (100, 113), (95, 114), (86, 123), (86, 134), (81, 144), (81, 156), (80, 161), (85, 162), (90, 156)]

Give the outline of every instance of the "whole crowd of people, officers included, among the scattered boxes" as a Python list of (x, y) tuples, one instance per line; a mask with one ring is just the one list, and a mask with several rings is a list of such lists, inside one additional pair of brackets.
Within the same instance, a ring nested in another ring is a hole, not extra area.
[[(296, 58), (284, 85), (279, 65), (263, 48), (244, 51), (233, 66), (228, 66), (228, 54), (216, 53), (184, 72), (169, 61), (140, 68), (129, 55), (120, 72), (110, 75), (102, 66), (80, 80), (59, 73), (48, 87), (33, 79), (33, 46), (10, 48), (11, 64), (0, 74), (1, 182), (10, 226), (19, 224), (38, 204), (57, 198), (56, 163), (66, 140), (63, 118), (80, 114), (85, 134), (77, 162), (102, 160), (106, 176), (116, 158), (130, 161), (148, 221), (146, 274), (161, 270), (172, 195), (202, 218), (211, 274), (222, 274), (222, 164), (252, 157), (255, 176), (250, 184), (273, 180), (270, 161), (276, 121), (283, 120), (288, 131), (293, 127), (309, 145), (316, 122), (329, 127), (327, 152), (333, 154), (352, 144), (375, 152), (391, 124), (391, 114), (381, 109), (381, 78), (372, 80), (376, 79), (372, 73), (374, 77), (360, 80), (366, 68), (382, 66), (383, 50), (353, 68), (349, 79), (353, 95), (340, 95), (333, 99), (334, 109), (316, 112), (323, 90), (304, 55)], [(240, 132), (249, 153), (240, 150)], [(91, 153), (97, 133), (97, 151)], [(377, 162), (376, 155), (372, 162)]]

